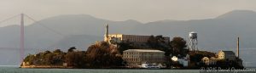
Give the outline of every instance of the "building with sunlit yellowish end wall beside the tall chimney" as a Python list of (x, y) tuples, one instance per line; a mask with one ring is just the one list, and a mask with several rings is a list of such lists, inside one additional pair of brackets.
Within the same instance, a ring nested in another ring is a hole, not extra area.
[(218, 51), (218, 59), (235, 60), (236, 54), (232, 51)]

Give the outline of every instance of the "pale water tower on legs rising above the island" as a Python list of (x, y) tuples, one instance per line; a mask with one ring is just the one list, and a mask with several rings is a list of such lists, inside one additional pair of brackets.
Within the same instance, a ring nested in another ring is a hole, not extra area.
[(188, 45), (189, 50), (190, 51), (198, 50), (197, 44), (198, 44), (197, 33), (194, 31), (189, 32), (189, 45)]

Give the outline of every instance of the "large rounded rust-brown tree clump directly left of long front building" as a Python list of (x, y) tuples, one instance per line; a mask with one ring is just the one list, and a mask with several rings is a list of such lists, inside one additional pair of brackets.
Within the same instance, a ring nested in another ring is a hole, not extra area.
[(118, 48), (106, 42), (91, 45), (86, 51), (86, 61), (90, 67), (114, 67), (123, 65)]

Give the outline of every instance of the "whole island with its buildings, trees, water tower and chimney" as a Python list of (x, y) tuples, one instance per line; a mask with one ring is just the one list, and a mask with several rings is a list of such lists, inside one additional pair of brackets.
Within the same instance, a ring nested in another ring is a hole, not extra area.
[(189, 42), (176, 36), (137, 36), (108, 34), (104, 41), (95, 42), (85, 51), (72, 47), (67, 52), (61, 49), (29, 54), (20, 68), (95, 68), (95, 69), (200, 69), (220, 67), (242, 69), (237, 52), (219, 50), (212, 53), (199, 50), (197, 33), (189, 33)]

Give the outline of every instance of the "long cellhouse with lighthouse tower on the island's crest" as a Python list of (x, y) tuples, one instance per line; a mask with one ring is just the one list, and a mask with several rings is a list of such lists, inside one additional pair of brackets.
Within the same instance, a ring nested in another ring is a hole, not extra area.
[[(106, 25), (106, 31), (104, 35), (104, 41), (110, 42), (118, 41), (118, 42), (148, 42), (148, 38), (150, 36), (137, 36), (137, 35), (125, 35), (125, 34), (108, 34), (108, 24)], [(165, 42), (170, 42), (170, 37), (163, 36)]]

